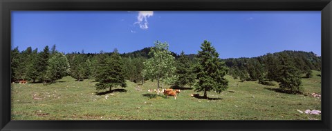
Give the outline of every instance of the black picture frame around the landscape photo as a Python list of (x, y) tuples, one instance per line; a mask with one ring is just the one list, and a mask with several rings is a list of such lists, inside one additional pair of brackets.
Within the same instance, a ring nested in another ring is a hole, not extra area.
[[(12, 10), (321, 10), (322, 121), (11, 121)], [(0, 130), (331, 130), (331, 0), (0, 0)]]

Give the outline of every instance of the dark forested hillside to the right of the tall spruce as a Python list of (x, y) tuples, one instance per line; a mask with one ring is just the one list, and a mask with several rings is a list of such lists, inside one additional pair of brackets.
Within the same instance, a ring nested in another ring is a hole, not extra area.
[(288, 64), (297, 69), (306, 77), (311, 77), (311, 70), (320, 71), (322, 69), (322, 59), (313, 52), (303, 51), (283, 51), (273, 54), (266, 54), (260, 57), (222, 59), (226, 66), (230, 68), (230, 74), (234, 79), (241, 81), (277, 81), (278, 74), (282, 68), (282, 62), (287, 59)]

